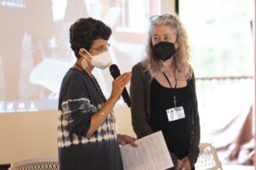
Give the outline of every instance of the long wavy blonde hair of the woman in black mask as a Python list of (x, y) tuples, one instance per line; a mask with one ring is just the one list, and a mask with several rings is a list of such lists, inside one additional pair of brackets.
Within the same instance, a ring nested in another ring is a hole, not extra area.
[(179, 74), (182, 73), (183, 77), (189, 80), (192, 77), (192, 68), (191, 65), (189, 65), (190, 48), (188, 36), (177, 15), (164, 14), (156, 16), (156, 19), (151, 21), (151, 26), (148, 31), (148, 44), (146, 48), (147, 58), (143, 61), (144, 67), (150, 73), (152, 78), (163, 72), (163, 64), (160, 59), (157, 59), (153, 51), (154, 49), (151, 37), (155, 26), (170, 26), (176, 34), (178, 48), (174, 54), (175, 62), (173, 62), (172, 68), (177, 79), (180, 78)]

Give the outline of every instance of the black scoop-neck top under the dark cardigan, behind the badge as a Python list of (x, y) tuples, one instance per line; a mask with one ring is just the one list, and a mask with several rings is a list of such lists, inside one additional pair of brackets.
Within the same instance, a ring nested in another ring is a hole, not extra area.
[[(162, 130), (168, 150), (179, 159), (188, 156), (190, 134), (192, 130), (193, 88), (165, 88), (155, 79), (150, 88), (149, 125), (154, 132)], [(174, 108), (173, 90), (175, 90), (177, 107), (183, 106), (185, 118), (169, 122), (166, 110)]]

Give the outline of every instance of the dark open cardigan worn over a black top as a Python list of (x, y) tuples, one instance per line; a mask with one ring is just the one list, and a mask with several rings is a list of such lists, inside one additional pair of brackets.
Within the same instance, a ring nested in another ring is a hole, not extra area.
[[(134, 132), (137, 134), (137, 138), (143, 138), (148, 134), (154, 133), (149, 126), (150, 117), (150, 84), (151, 76), (144, 68), (143, 62), (134, 65), (131, 71), (131, 120)], [(191, 167), (195, 165), (197, 157), (199, 155), (199, 142), (200, 142), (200, 121), (197, 108), (197, 98), (195, 93), (195, 76), (188, 82), (193, 87), (193, 113), (191, 126), (191, 138), (188, 151), (188, 157)], [(177, 156), (170, 153), (172, 161), (175, 167), (177, 167)]]

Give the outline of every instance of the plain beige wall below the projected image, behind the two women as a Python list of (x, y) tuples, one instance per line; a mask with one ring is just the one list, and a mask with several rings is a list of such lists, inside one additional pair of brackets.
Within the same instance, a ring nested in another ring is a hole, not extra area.
[[(136, 136), (128, 107), (114, 109), (118, 133)], [(35, 156), (57, 156), (57, 111), (0, 115), (0, 164)]]

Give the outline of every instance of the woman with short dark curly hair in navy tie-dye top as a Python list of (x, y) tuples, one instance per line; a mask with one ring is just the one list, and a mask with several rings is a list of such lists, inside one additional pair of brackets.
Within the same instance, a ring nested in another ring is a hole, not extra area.
[(70, 43), (77, 57), (62, 80), (59, 97), (58, 150), (61, 170), (121, 170), (119, 144), (134, 138), (116, 133), (113, 106), (131, 72), (113, 81), (105, 99), (91, 71), (111, 64), (108, 38), (112, 31), (100, 20), (79, 19), (70, 27)]

